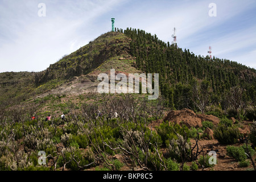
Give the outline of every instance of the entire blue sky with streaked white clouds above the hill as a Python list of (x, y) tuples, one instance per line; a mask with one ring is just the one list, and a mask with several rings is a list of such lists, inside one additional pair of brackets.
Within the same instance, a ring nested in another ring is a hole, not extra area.
[[(46, 16), (38, 16), (39, 3)], [(216, 15), (209, 16), (210, 3)], [(255, 0), (0, 0), (0, 72), (43, 71), (115, 26), (256, 68)]]

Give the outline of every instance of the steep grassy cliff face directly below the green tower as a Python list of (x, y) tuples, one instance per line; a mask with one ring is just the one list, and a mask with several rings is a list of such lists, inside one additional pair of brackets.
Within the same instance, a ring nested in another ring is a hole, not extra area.
[(130, 39), (119, 32), (108, 32), (49, 66), (35, 77), (35, 84), (54, 79), (87, 75), (111, 57), (128, 55)]

